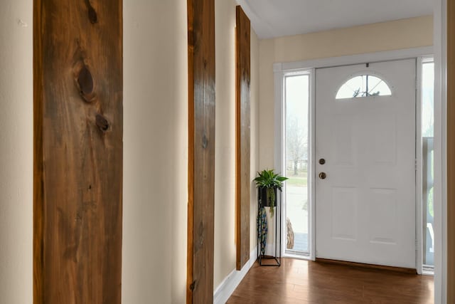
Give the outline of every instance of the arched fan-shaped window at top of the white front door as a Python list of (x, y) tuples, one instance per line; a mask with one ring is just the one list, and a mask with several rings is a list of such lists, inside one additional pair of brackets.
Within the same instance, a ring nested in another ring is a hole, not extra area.
[(336, 99), (392, 95), (387, 83), (375, 75), (358, 75), (343, 83)]

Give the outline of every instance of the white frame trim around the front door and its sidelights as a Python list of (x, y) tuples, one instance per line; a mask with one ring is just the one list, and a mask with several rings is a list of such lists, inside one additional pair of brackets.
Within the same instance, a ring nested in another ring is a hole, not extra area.
[[(284, 140), (284, 128), (283, 122), (284, 122), (284, 75), (290, 74), (290, 73), (295, 73), (298, 71), (302, 70), (311, 70), (310, 74), (310, 109), (309, 109), (309, 142), (311, 145), (311, 150), (309, 151), (309, 163), (311, 166), (309, 167), (309, 189), (310, 196), (309, 196), (309, 216), (310, 216), (310, 222), (311, 226), (309, 227), (309, 235), (311, 236), (311, 244), (310, 244), (310, 256), (309, 258), (311, 260), (314, 260), (316, 258), (316, 252), (315, 252), (315, 241), (316, 241), (316, 234), (315, 234), (315, 223), (316, 223), (316, 216), (314, 213), (315, 210), (315, 198), (314, 198), (314, 193), (315, 193), (315, 174), (316, 172), (316, 162), (314, 162), (314, 154), (315, 154), (315, 89), (316, 89), (316, 83), (315, 83), (315, 73), (314, 70), (316, 68), (328, 68), (328, 67), (333, 67), (333, 66), (339, 66), (339, 65), (353, 65), (353, 64), (359, 64), (359, 63), (373, 63), (373, 62), (380, 62), (380, 61), (394, 61), (394, 60), (400, 60), (400, 59), (407, 59), (407, 58), (422, 58), (424, 56), (433, 56), (434, 54), (434, 49), (432, 46), (429, 47), (421, 47), (421, 48), (408, 48), (408, 49), (402, 49), (402, 50), (397, 50), (397, 51), (383, 51), (383, 52), (377, 52), (377, 53), (364, 53), (364, 54), (359, 54), (359, 55), (353, 55), (353, 56), (341, 56), (341, 57), (331, 57), (331, 58), (322, 58), (322, 59), (316, 59), (316, 60), (310, 60), (310, 61), (296, 61), (296, 62), (288, 62), (288, 63), (274, 63), (273, 65), (273, 70), (274, 70), (274, 167), (278, 169), (279, 172), (282, 171), (283, 169), (283, 164), (284, 164), (284, 159), (283, 159), (283, 140)], [(419, 61), (417, 61), (419, 62)], [(436, 66), (436, 58), (435, 58), (435, 66)], [(419, 65), (417, 65), (419, 68)], [(417, 81), (419, 81), (419, 70), (417, 70)], [(436, 78), (435, 73), (435, 78)], [(417, 83), (419, 84), (419, 83)], [(417, 85), (417, 88), (419, 88), (419, 85)], [(435, 86), (435, 91), (437, 87)], [(436, 97), (436, 96), (435, 96)], [(419, 98), (419, 90), (416, 92), (416, 112), (419, 113), (419, 110), (421, 108), (420, 106), (421, 100)], [(438, 114), (437, 112), (440, 109), (437, 108), (436, 105), (436, 98), (435, 98), (435, 133), (434, 136), (437, 137), (439, 134), (437, 133), (437, 121), (440, 121), (437, 119)], [(440, 112), (439, 112), (440, 116)], [(416, 117), (416, 125), (420, 125), (421, 123), (421, 117), (419, 114), (417, 114)], [(416, 130), (416, 145), (419, 142), (419, 135), (420, 135), (420, 130), (417, 127)], [(439, 135), (440, 136), (440, 135)], [(439, 137), (441, 138), (441, 137)], [(436, 140), (435, 140), (436, 142)], [(435, 153), (437, 154), (437, 147), (435, 144)], [(419, 149), (417, 149), (417, 157), (419, 157)], [(435, 157), (436, 159), (437, 157)], [(437, 166), (435, 164), (435, 184), (437, 183)], [(422, 166), (417, 167), (417, 176), (422, 176)], [(439, 181), (441, 182), (441, 181)], [(420, 189), (419, 189), (420, 187)], [(436, 189), (435, 189), (436, 190)], [(421, 184), (416, 184), (416, 237), (417, 237), (417, 254), (416, 254), (416, 267), (417, 271), (420, 273), (422, 271), (422, 229), (420, 227), (422, 225), (419, 225), (422, 223), (422, 204), (417, 204), (419, 197), (422, 197), (422, 195), (419, 195), (419, 191), (422, 191), (422, 185)], [(435, 191), (436, 193), (436, 191)], [(436, 196), (436, 194), (435, 194)], [(435, 197), (435, 205), (437, 203), (436, 197)], [(437, 217), (437, 211), (436, 211), (436, 206), (435, 206), (435, 218)], [(285, 223), (286, 219), (282, 219), (282, 223)], [(438, 232), (438, 231), (437, 231)], [(283, 229), (283, 235), (282, 237), (284, 238), (284, 229)], [(438, 237), (441, 237), (440, 231), (439, 235), (436, 236), (436, 239)], [(285, 246), (284, 243), (282, 242), (282, 246)], [(436, 246), (436, 240), (435, 240), (435, 246)], [(437, 248), (437, 247), (436, 247)], [(285, 248), (282, 248), (284, 250)], [(285, 252), (285, 251), (283, 251)], [(441, 253), (441, 251), (439, 251)], [(437, 255), (437, 253), (435, 254)], [(435, 262), (436, 262), (437, 257), (435, 256)], [(435, 265), (436, 266), (436, 265)], [(439, 269), (436, 268), (435, 269)], [(437, 288), (435, 288), (436, 290)], [(438, 303), (438, 302), (435, 302)]]

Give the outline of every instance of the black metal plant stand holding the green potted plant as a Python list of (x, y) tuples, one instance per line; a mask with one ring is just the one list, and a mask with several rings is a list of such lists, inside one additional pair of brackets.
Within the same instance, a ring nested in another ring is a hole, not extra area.
[[(267, 256), (265, 254), (261, 253), (261, 236), (262, 236), (262, 231), (259, 230), (259, 227), (257, 227), (258, 235), (257, 235), (257, 258), (259, 259), (259, 265), (260, 266), (280, 266), (281, 265), (281, 260), (282, 260), (282, 192), (277, 191), (277, 195), (275, 197), (275, 212), (274, 212), (274, 218), (275, 218), (275, 235), (274, 235), (274, 256)], [(257, 194), (257, 215), (259, 216), (259, 211), (261, 207), (263, 206), (263, 202), (261, 199), (261, 191), (258, 189), (258, 194)], [(278, 219), (279, 218), (279, 219)], [(259, 224), (259, 221), (258, 221)], [(268, 225), (268, 222), (267, 222)], [(278, 229), (279, 227), (279, 229)], [(268, 229), (267, 229), (268, 230)], [(278, 234), (279, 230), (279, 234)], [(270, 233), (271, 231), (267, 231), (267, 233)], [(278, 244), (278, 238), (279, 238), (279, 246)], [(267, 248), (267, 243), (266, 243), (266, 248)], [(264, 250), (265, 251), (265, 250)], [(273, 260), (272, 263), (263, 263), (263, 260)]]

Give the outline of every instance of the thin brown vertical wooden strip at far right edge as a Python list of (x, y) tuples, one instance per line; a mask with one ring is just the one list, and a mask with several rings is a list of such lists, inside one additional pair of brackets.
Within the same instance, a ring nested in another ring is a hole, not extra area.
[(447, 1), (447, 303), (455, 303), (455, 1)]

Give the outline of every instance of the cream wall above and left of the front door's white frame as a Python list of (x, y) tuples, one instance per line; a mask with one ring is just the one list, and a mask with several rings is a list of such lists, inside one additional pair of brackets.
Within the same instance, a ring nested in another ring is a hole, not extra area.
[(274, 167), (273, 63), (432, 46), (432, 16), (266, 39), (259, 44), (259, 167)]

